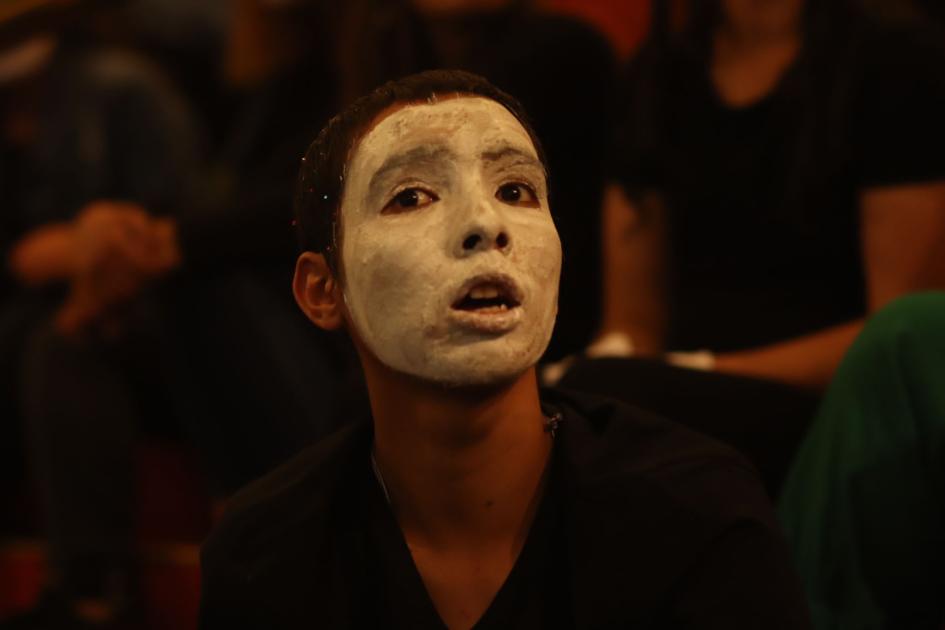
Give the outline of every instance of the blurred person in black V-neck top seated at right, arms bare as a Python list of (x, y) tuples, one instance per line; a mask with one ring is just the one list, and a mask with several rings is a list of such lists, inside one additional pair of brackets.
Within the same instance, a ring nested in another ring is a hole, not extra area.
[(942, 39), (858, 5), (698, 2), (656, 29), (624, 85), (605, 334), (819, 388), (868, 313), (945, 284)]

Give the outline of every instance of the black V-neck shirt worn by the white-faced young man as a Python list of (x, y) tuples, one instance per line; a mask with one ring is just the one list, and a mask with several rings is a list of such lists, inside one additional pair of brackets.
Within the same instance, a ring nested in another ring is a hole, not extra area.
[[(563, 415), (552, 482), (493, 602), (497, 622), (547, 627), (535, 623), (551, 612), (574, 628), (809, 627), (771, 507), (739, 456), (617, 403), (543, 399)], [(437, 627), (378, 503), (371, 441), (370, 425), (348, 426), (234, 498), (204, 546), (201, 628)], [(546, 576), (522, 584), (517, 571)], [(412, 586), (391, 583), (405, 572)], [(385, 602), (404, 589), (406, 601)], [(400, 608), (417, 599), (416, 617)]]

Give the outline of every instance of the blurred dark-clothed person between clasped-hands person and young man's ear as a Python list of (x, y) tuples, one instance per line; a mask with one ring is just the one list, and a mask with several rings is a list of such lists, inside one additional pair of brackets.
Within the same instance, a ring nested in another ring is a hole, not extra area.
[(193, 341), (194, 362), (215, 393), (219, 421), (200, 439), (223, 496), (366, 404), (353, 350), (312, 330), (284, 290), (297, 245), (295, 174), (338, 99), (334, 10), (314, 0), (231, 2), (220, 76), (232, 113), (203, 210), (174, 226), (175, 277), (210, 302), (198, 330), (213, 333)]

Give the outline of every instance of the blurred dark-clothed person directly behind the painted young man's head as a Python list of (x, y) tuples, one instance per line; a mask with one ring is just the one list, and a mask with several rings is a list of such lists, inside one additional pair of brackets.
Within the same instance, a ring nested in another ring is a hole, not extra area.
[(579, 351), (599, 322), (599, 204), (615, 59), (592, 27), (520, 0), (363, 0), (342, 20), (343, 94), (431, 68), (489, 79), (528, 110), (548, 152), (564, 247), (546, 358)]

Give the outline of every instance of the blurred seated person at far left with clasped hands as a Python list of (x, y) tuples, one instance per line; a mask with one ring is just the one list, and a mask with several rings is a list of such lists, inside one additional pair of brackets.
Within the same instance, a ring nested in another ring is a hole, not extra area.
[(0, 361), (51, 579), (40, 610), (4, 627), (71, 627), (131, 606), (131, 438), (142, 412), (167, 426), (181, 409), (151, 298), (130, 298), (177, 264), (168, 228), (192, 203), (200, 133), (156, 68), (74, 44), (57, 9), (91, 4), (26, 4), (5, 16), (0, 54)]

